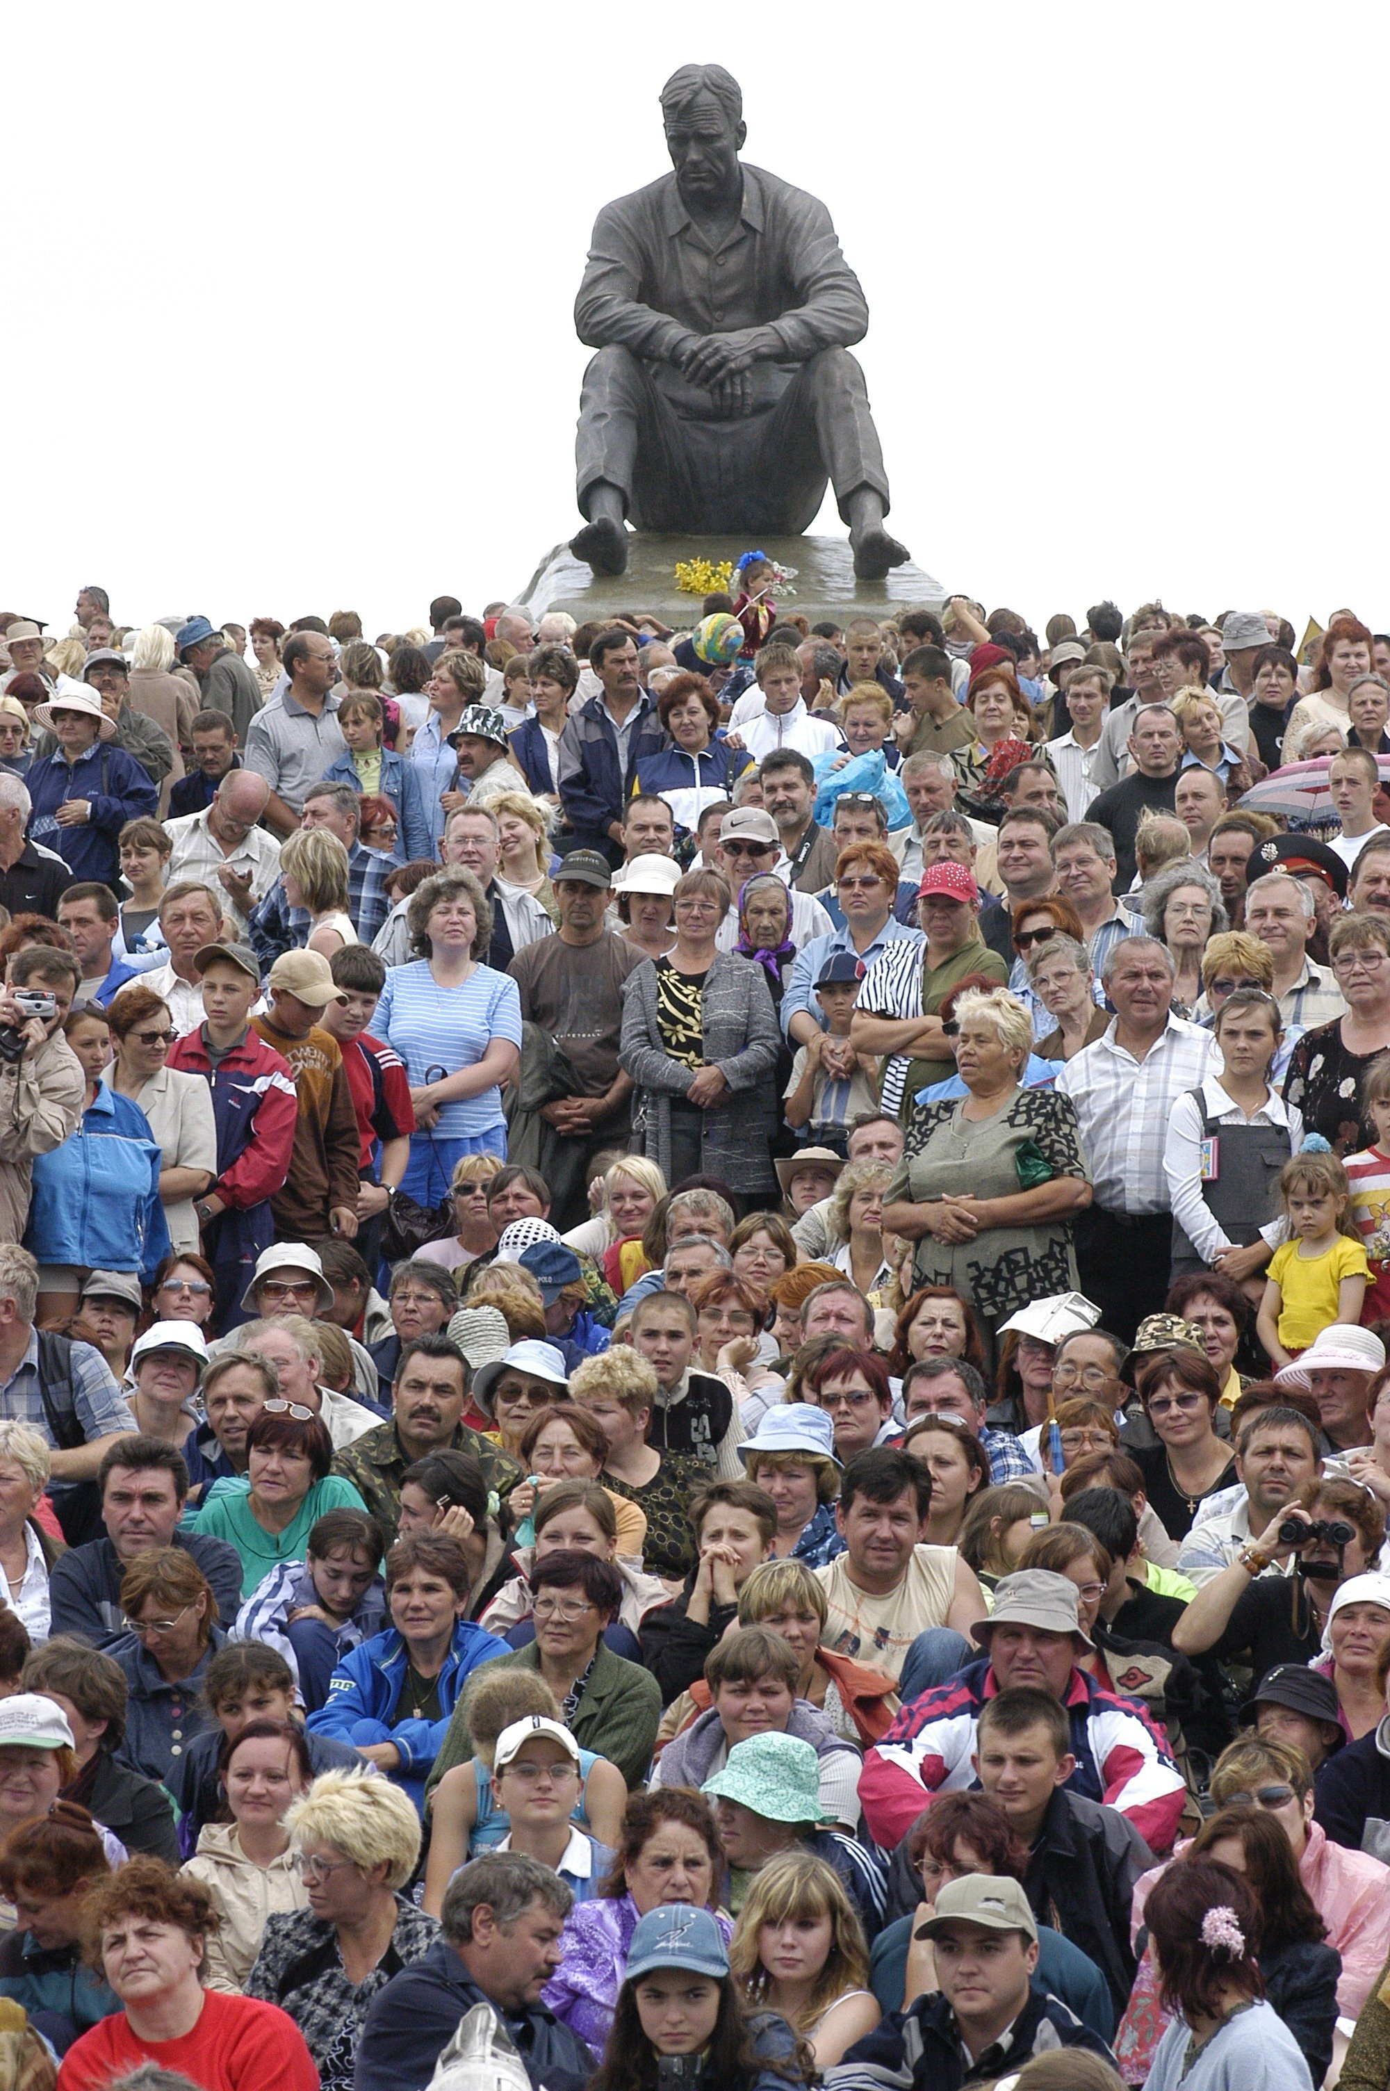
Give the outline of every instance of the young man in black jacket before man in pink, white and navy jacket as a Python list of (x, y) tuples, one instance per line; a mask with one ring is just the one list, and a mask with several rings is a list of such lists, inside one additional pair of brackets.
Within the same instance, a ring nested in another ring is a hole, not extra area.
[(1129, 1905), (1154, 1853), (1118, 1809), (1066, 1792), (1072, 1769), (1066, 1713), (1051, 1694), (1018, 1685), (984, 1700), (976, 1773), (1028, 1846), (1028, 1905), (1095, 1961), (1122, 2016), (1137, 1966)]

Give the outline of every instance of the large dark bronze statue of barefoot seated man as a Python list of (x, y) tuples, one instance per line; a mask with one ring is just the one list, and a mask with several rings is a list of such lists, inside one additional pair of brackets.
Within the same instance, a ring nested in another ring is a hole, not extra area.
[(863, 370), (859, 278), (815, 197), (746, 167), (738, 82), (684, 65), (661, 94), (675, 174), (598, 213), (575, 299), (598, 349), (579, 401), (571, 550), (623, 573), (625, 521), (759, 537), (811, 527), (834, 485), (855, 573), (907, 558)]

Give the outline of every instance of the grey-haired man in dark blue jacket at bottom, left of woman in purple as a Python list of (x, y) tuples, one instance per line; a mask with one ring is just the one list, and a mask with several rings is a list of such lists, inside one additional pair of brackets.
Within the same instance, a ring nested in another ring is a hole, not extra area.
[(445, 1888), (443, 1936), (372, 1999), (355, 2091), (424, 2091), (460, 2018), (491, 2003), (533, 2091), (583, 2091), (596, 2058), (541, 2003), (575, 1901), (539, 1859), (493, 1851)]

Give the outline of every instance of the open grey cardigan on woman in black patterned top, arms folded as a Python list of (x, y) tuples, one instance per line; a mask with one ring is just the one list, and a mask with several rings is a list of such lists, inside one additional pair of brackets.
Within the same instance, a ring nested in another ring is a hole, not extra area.
[[(773, 1069), (778, 1018), (767, 974), (748, 958), (715, 951), (702, 995), (704, 1058), (721, 1069), (734, 1092), (704, 1112), (700, 1171), (723, 1177), (738, 1192), (771, 1190), (775, 1175), (767, 1150), (778, 1123)], [(690, 1069), (671, 1060), (656, 1022), (656, 960), (648, 958), (623, 983), (623, 1043), (619, 1064), (638, 1085), (633, 1129), (644, 1154), (671, 1177), (671, 1098), (686, 1096)]]

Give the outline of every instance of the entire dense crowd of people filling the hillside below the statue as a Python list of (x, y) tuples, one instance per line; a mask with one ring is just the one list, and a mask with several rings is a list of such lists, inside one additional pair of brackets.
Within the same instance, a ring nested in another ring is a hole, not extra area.
[(1390, 2091), (1390, 636), (775, 581), (0, 615), (0, 2091)]

